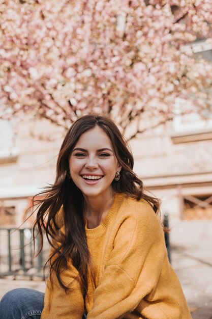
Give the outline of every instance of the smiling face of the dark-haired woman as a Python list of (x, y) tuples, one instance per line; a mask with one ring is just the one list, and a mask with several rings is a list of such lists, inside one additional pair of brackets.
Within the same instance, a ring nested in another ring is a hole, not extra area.
[(121, 168), (109, 137), (99, 126), (81, 135), (69, 159), (71, 178), (84, 197), (111, 194), (111, 183)]

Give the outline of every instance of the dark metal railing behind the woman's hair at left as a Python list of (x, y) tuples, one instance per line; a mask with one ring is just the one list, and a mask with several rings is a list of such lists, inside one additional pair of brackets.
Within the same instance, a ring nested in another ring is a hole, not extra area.
[[(45, 238), (44, 238), (45, 239)], [(43, 277), (43, 266), (49, 253), (49, 245), (34, 256), (31, 228), (0, 228), (0, 276)], [(39, 251), (40, 238), (35, 240), (35, 255)]]

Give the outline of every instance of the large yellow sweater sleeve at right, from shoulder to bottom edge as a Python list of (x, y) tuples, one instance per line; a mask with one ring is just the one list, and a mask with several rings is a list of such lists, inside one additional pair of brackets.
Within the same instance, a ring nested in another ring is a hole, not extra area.
[(111, 233), (113, 249), (87, 319), (127, 318), (134, 310), (148, 319), (190, 319), (158, 218), (147, 203), (138, 207)]

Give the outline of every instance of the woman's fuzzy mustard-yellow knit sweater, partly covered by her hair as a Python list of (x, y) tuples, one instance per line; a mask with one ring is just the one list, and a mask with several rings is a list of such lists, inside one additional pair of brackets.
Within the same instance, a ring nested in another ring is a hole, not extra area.
[[(85, 231), (95, 270), (95, 283), (88, 276), (87, 319), (191, 319), (162, 227), (146, 201), (116, 194), (104, 222)], [(70, 263), (62, 279), (69, 284), (77, 274)], [(65, 294), (52, 276), (41, 319), (82, 319), (80, 281)]]

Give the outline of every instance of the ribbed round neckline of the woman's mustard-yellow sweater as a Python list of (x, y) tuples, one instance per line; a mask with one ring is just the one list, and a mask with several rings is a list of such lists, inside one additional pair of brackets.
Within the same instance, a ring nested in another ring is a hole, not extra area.
[(86, 219), (84, 217), (85, 233), (86, 233), (87, 237), (100, 236), (106, 231), (107, 226), (108, 226), (111, 218), (115, 215), (115, 212), (117, 211), (120, 203), (123, 201), (124, 196), (125, 196), (125, 194), (122, 194), (122, 193), (114, 194), (114, 200), (113, 200), (112, 206), (110, 207), (103, 223), (100, 224), (99, 226), (97, 226), (95, 228), (87, 228), (87, 222), (86, 222)]

